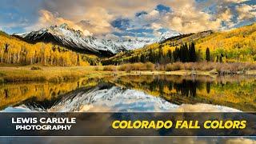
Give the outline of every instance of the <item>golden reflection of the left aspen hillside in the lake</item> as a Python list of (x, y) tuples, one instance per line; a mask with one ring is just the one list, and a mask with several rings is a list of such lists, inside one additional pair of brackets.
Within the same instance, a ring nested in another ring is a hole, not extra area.
[(0, 86), (0, 110), (6, 106), (15, 106), (20, 103), (54, 102), (62, 94), (66, 94), (79, 87), (96, 86), (98, 79), (82, 78), (78, 82), (30, 82), (8, 83)]

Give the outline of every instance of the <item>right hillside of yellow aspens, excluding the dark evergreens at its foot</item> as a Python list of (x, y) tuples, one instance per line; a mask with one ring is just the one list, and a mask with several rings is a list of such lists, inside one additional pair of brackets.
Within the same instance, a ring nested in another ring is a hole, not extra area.
[(102, 63), (147, 62), (150, 61), (152, 54), (154, 59), (167, 57), (166, 59), (169, 58), (167, 62), (171, 62), (174, 50), (180, 48), (182, 44), (187, 44), (187, 47), (190, 47), (191, 42), (195, 45), (198, 62), (206, 59), (206, 48), (210, 50), (210, 61), (212, 62), (256, 61), (256, 23), (254, 23), (229, 31), (209, 30), (198, 34), (182, 34), (163, 42), (144, 46), (142, 49), (116, 54), (112, 58), (104, 59)]

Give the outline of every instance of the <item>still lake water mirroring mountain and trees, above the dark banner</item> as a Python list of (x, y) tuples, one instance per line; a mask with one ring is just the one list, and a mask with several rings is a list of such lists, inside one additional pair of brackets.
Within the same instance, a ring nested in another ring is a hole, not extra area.
[(110, 76), (8, 83), (4, 111), (256, 111), (253, 76)]

